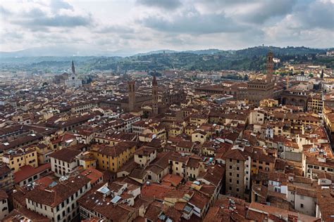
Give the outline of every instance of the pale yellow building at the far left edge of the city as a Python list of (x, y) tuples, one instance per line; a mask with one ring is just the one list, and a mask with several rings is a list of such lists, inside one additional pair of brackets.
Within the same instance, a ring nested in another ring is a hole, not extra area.
[(17, 172), (21, 166), (38, 166), (37, 150), (33, 147), (20, 148), (16, 151), (9, 150), (4, 154), (3, 162), (13, 171)]

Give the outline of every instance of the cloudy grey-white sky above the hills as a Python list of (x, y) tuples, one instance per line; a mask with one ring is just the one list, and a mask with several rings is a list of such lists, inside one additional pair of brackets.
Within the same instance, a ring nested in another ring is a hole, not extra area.
[(0, 51), (334, 46), (334, 0), (0, 0)]

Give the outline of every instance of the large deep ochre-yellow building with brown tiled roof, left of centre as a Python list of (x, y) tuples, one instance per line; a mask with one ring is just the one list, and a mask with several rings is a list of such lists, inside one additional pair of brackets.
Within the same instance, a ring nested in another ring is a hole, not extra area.
[(109, 146), (105, 144), (94, 145), (91, 149), (97, 159), (97, 168), (117, 172), (135, 153), (136, 142), (120, 142)]

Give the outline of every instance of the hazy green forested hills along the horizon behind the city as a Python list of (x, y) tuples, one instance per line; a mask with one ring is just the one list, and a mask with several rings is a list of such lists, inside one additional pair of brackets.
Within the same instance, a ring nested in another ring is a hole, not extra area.
[(71, 60), (75, 60), (80, 72), (91, 70), (264, 70), (266, 54), (272, 51), (274, 57), (282, 62), (294, 60), (294, 63), (314, 63), (334, 67), (334, 58), (318, 58), (316, 54), (325, 54), (328, 49), (307, 47), (256, 46), (237, 51), (217, 49), (201, 51), (155, 51), (129, 57), (27, 57), (1, 58), (2, 69), (13, 65), (27, 70), (67, 69)]

